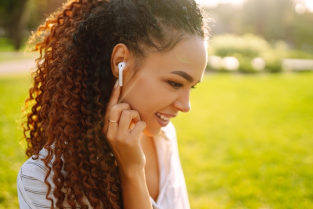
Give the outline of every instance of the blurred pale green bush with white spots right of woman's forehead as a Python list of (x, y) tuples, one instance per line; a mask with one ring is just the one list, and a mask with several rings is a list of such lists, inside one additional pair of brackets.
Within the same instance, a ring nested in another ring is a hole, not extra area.
[(283, 58), (308, 59), (313, 58), (313, 54), (290, 50), (282, 40), (269, 43), (251, 33), (242, 36), (221, 34), (214, 36), (210, 41), (207, 68), (218, 71), (237, 70), (244, 73), (280, 72)]

